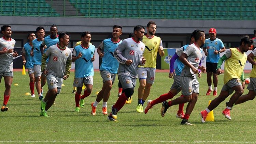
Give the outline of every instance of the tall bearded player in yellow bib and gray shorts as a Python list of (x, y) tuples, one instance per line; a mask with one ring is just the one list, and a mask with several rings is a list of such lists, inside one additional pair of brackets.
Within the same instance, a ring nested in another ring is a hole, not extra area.
[(156, 74), (156, 56), (157, 52), (161, 57), (165, 54), (162, 47), (162, 40), (155, 36), (156, 23), (149, 21), (147, 23), (147, 34), (143, 36), (142, 42), (145, 44), (145, 51), (143, 57), (147, 60), (145, 65), (139, 66), (138, 78), (140, 86), (138, 89), (138, 105), (137, 112), (143, 112), (143, 104), (150, 94), (150, 89), (155, 81)]

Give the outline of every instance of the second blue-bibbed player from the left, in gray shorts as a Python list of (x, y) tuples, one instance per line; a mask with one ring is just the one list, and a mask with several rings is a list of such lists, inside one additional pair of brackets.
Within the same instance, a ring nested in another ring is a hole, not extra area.
[(34, 70), (34, 77), (35, 77), (35, 88), (37, 89), (38, 92), (38, 98), (39, 100), (43, 99), (43, 95), (41, 94), (41, 64), (42, 64), (42, 53), (40, 50), (40, 46), (43, 43), (44, 40), (44, 27), (37, 27), (36, 33), (38, 38), (34, 39), (32, 41), (32, 49), (30, 52), (30, 55), (33, 57), (32, 58), (32, 64), (33, 70)]

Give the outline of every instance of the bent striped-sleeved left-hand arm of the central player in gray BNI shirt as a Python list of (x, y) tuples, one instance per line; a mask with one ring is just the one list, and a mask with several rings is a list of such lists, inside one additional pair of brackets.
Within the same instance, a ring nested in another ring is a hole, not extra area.
[[(122, 55), (122, 51), (125, 50), (126, 48), (126, 40), (124, 40), (120, 45), (118, 45), (118, 47), (115, 49), (114, 51), (114, 56), (116, 58), (116, 60), (120, 63), (120, 64), (131, 64), (132, 60), (127, 60), (123, 55)], [(127, 65), (128, 65), (127, 64)]]

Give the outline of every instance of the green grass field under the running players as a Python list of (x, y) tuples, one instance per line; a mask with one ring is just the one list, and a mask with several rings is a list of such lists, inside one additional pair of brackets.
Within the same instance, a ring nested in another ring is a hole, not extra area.
[[(255, 100), (234, 106), (232, 120), (229, 121), (222, 115), (228, 97), (213, 111), (215, 122), (201, 123), (199, 112), (207, 107), (209, 100), (214, 99), (213, 96), (205, 95), (208, 89), (206, 74), (199, 79), (200, 94), (189, 119), (196, 126), (180, 125), (181, 119), (175, 117), (177, 105), (170, 107), (165, 117), (160, 115), (161, 104), (155, 105), (147, 114), (137, 113), (138, 81), (132, 103), (126, 104), (118, 112), (119, 122), (110, 122), (106, 115), (101, 114), (102, 101), (96, 115), (92, 116), (90, 103), (95, 101), (95, 93), (102, 87), (99, 72), (95, 72), (93, 92), (85, 99), (86, 106), (79, 113), (74, 112), (75, 100), (74, 94), (71, 94), (73, 77), (74, 73), (71, 73), (70, 78), (63, 82), (65, 86), (57, 96), (56, 104), (48, 110), (47, 114), (52, 117), (41, 117), (38, 98), (24, 95), (30, 92), (28, 74), (22, 76), (21, 72), (14, 72), (9, 111), (0, 113), (0, 143), (256, 143)], [(172, 82), (168, 73), (157, 73), (148, 99), (167, 93)], [(15, 83), (19, 86), (14, 86)], [(111, 91), (108, 112), (111, 112), (111, 106), (117, 100), (117, 84), (118, 80)], [(223, 75), (220, 75), (219, 92), (222, 85)], [(2, 80), (1, 102), (3, 92)], [(244, 94), (247, 92), (246, 89)]]

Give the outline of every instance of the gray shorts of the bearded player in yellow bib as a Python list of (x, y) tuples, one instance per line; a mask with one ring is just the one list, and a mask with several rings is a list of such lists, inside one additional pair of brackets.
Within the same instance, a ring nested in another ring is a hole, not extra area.
[(156, 68), (152, 67), (139, 67), (138, 68), (138, 78), (146, 79), (147, 83), (153, 84), (155, 81)]

